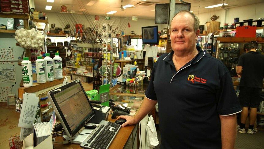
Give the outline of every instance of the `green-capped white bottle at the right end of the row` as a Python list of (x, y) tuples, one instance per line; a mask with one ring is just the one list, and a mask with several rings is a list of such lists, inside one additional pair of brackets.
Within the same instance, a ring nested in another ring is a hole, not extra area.
[(54, 64), (54, 79), (63, 78), (62, 58), (59, 56), (59, 53), (55, 53), (55, 57), (53, 57), (53, 64)]

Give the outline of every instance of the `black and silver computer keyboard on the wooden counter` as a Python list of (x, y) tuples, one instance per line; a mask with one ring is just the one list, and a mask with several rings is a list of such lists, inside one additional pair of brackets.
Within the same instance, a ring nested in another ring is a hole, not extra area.
[(119, 124), (102, 120), (80, 146), (90, 149), (107, 149), (120, 128)]

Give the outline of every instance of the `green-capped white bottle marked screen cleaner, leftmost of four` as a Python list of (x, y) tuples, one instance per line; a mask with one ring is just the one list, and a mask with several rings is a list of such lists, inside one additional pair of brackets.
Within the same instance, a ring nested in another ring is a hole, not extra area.
[(23, 75), (23, 86), (24, 87), (33, 86), (31, 61), (28, 60), (28, 57), (24, 57), (23, 61), (21, 62), (21, 65), (22, 65), (22, 75)]

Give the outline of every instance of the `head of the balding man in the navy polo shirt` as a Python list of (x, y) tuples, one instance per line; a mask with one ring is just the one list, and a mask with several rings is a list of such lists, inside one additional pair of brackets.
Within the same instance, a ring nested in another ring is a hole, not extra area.
[(171, 43), (174, 53), (177, 51), (192, 51), (196, 49), (196, 39), (200, 30), (194, 31), (194, 18), (190, 14), (177, 14), (171, 23)]

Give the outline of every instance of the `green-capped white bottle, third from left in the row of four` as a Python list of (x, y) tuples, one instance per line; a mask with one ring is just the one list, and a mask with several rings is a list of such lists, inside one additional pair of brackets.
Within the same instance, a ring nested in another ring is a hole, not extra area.
[(54, 80), (54, 73), (53, 73), (53, 60), (50, 57), (50, 53), (46, 53), (46, 57), (43, 58), (45, 63), (45, 79), (46, 81), (53, 81)]

